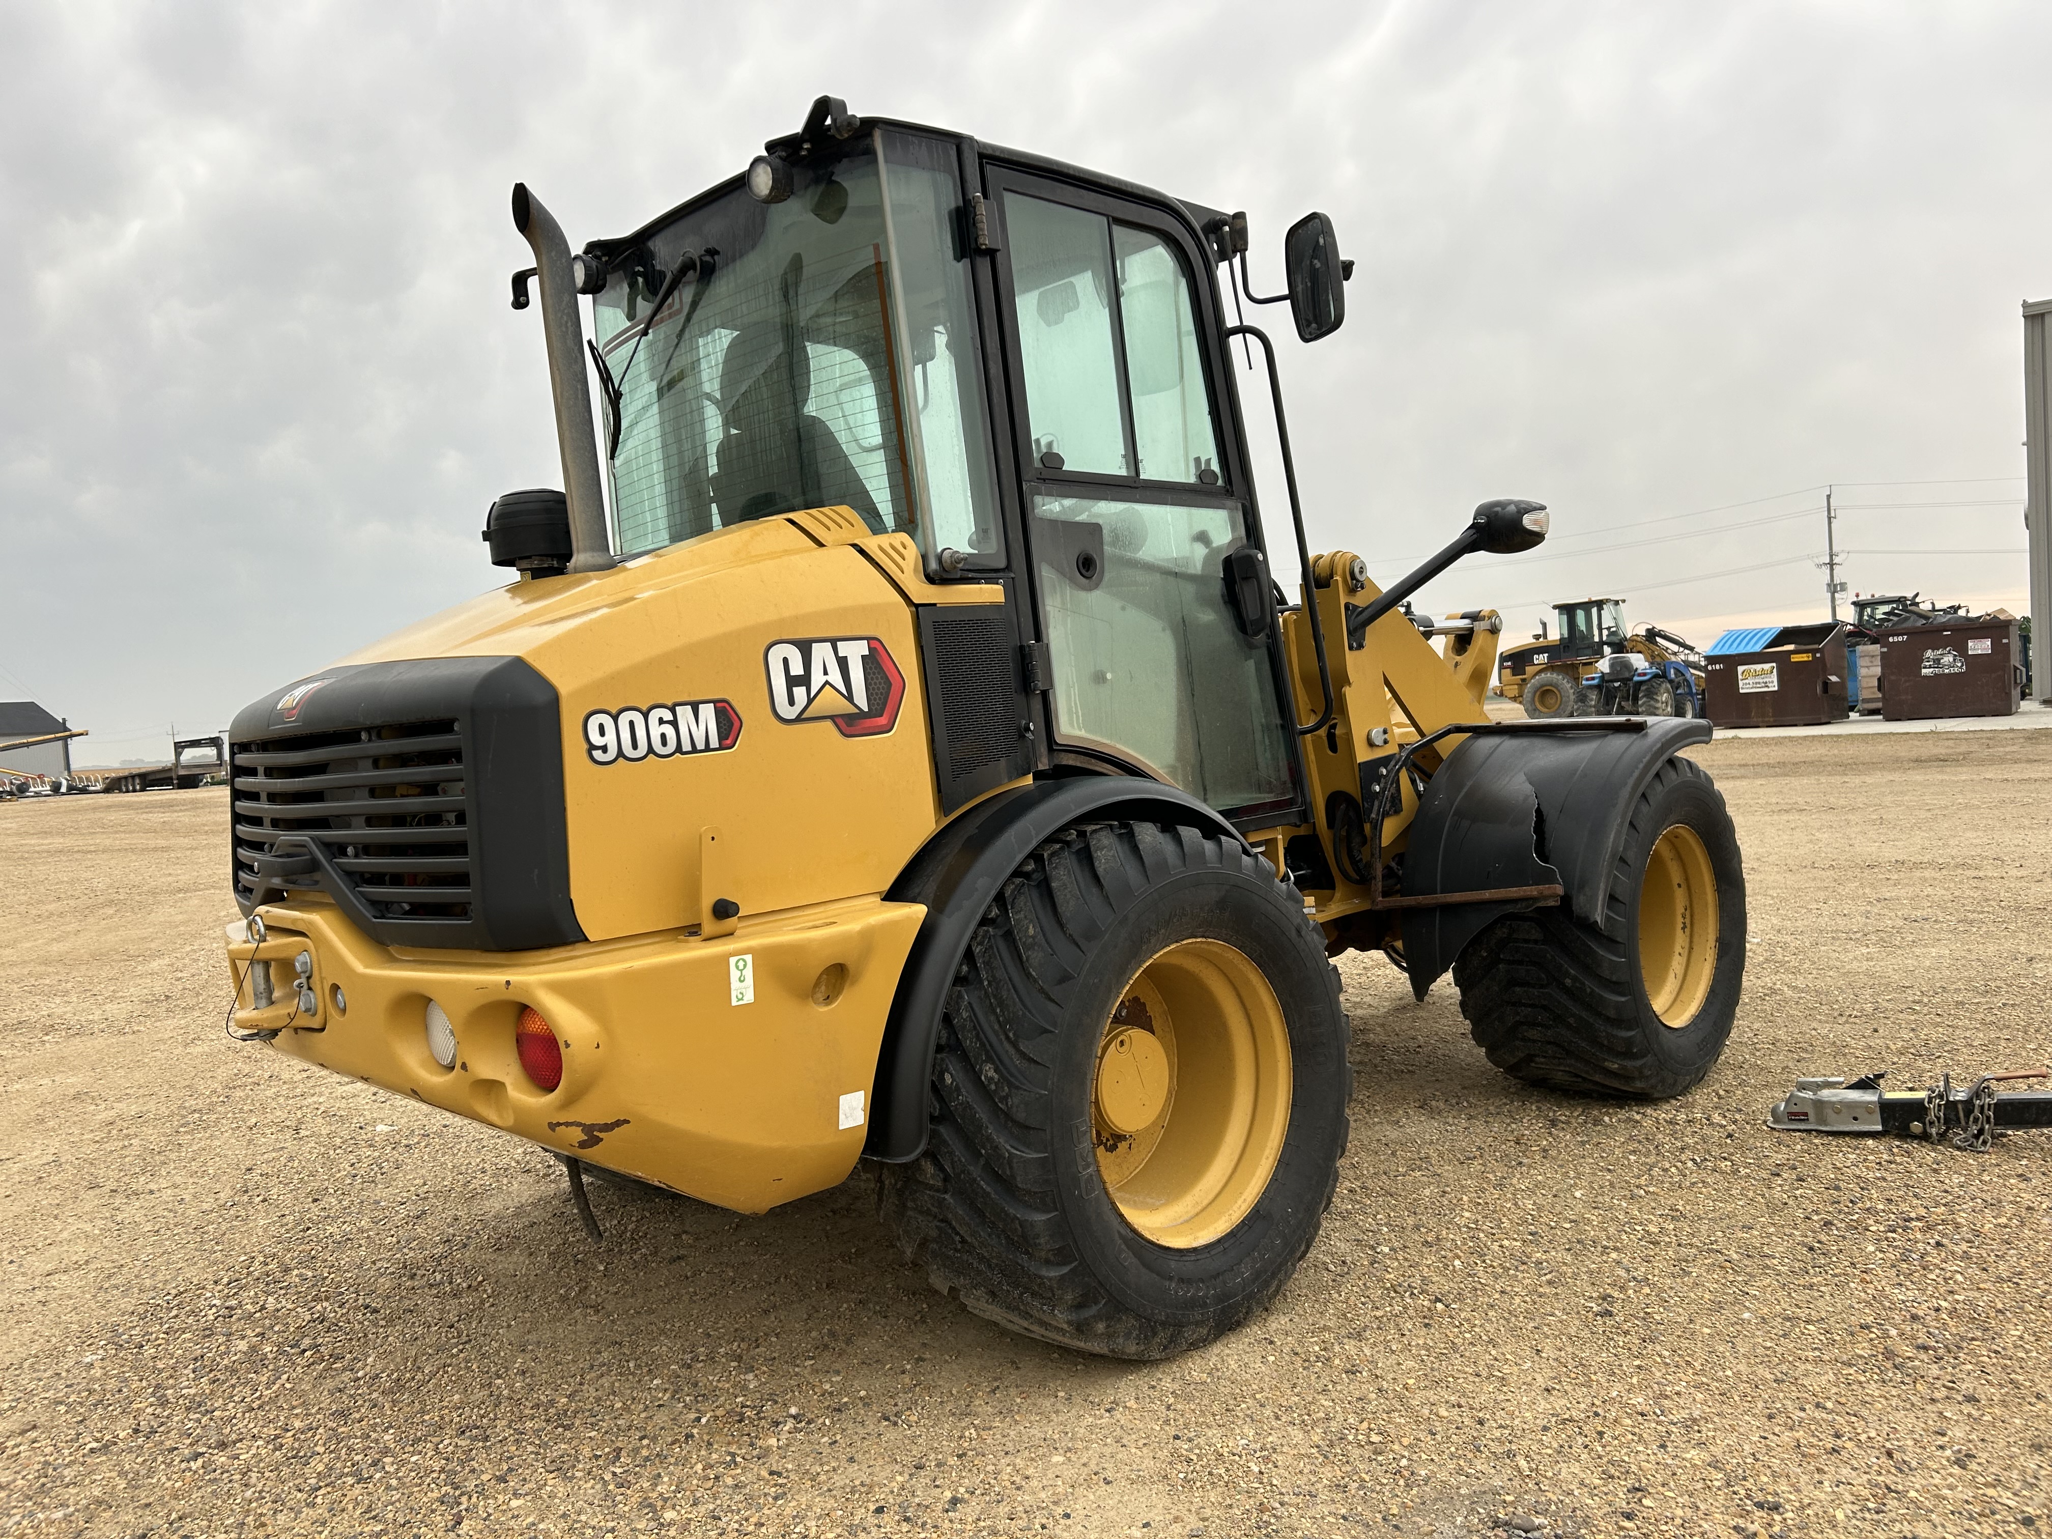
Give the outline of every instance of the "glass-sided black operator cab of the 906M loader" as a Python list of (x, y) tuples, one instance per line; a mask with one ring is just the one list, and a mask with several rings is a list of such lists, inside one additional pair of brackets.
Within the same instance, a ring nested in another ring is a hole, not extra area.
[[(1313, 220), (1291, 234), (1307, 337), (1344, 314)], [(909, 536), (930, 583), (1005, 589), (1001, 620), (979, 605), (989, 634), (921, 636), (946, 811), (1067, 765), (1176, 784), (1241, 827), (1299, 815), (1211, 273), (1237, 232), (823, 98), (747, 174), (573, 263), (614, 550), (845, 505)], [(960, 708), (977, 692), (999, 698), (983, 724)]]

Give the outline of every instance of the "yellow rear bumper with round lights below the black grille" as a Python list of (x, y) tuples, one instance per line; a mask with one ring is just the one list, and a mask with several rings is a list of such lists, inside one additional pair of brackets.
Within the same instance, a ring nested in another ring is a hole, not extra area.
[[(891, 997), (925, 909), (870, 897), (718, 938), (665, 932), (505, 954), (380, 946), (322, 899), (256, 913), (261, 946), (246, 923), (228, 928), (236, 1030), (277, 1030), (273, 1047), (308, 1063), (761, 1213), (854, 1170)], [(312, 1014), (293, 983), (302, 952)], [(265, 1010), (252, 962), (277, 981)], [(737, 1003), (741, 993), (751, 997)], [(451, 1069), (429, 1053), (429, 1001), (456, 1028)], [(554, 1092), (534, 1086), (513, 1044), (527, 1005), (562, 1044)]]

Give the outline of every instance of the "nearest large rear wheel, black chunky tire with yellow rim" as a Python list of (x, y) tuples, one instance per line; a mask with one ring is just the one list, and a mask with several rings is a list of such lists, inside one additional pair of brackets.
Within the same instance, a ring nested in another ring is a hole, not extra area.
[(1346, 1151), (1346, 1044), (1324, 938), (1250, 850), (1065, 829), (971, 938), (928, 1147), (880, 1170), (882, 1217), (987, 1319), (1106, 1356), (1184, 1352), (1311, 1248)]

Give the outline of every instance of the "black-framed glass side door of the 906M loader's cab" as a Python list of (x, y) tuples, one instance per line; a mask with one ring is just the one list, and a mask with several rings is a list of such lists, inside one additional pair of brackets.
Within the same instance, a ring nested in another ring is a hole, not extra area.
[(1266, 577), (1248, 579), (1266, 568), (1229, 560), (1260, 542), (1200, 246), (1143, 203), (989, 185), (1055, 747), (1272, 817), (1297, 800), (1295, 735)]

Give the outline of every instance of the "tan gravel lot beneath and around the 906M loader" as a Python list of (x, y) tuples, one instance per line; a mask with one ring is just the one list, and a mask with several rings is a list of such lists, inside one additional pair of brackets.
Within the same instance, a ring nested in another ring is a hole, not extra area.
[(1350, 958), (1354, 1141), (1235, 1338), (930, 1293), (866, 1176), (597, 1186), (236, 1047), (222, 792), (0, 806), (0, 1535), (1949, 1535), (2052, 1523), (2052, 1135), (1775, 1135), (2052, 1051), (2052, 733), (1701, 751), (1752, 891), (1695, 1094), (1523, 1090)]

